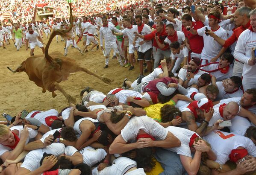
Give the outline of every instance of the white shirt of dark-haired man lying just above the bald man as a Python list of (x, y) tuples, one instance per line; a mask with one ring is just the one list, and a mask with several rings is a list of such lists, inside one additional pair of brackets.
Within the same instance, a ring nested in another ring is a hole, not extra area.
[(219, 93), (218, 96), (216, 98), (216, 100), (221, 100), (221, 99), (228, 99), (228, 98), (232, 98), (232, 97), (241, 97), (243, 96), (243, 91), (238, 88), (238, 91), (234, 92), (234, 93), (227, 93), (224, 90), (224, 86), (222, 85), (222, 82), (216, 82), (216, 85), (219, 89)]

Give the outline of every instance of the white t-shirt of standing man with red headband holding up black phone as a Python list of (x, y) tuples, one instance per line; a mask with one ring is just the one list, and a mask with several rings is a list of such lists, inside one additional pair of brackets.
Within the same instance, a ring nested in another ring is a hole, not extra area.
[[(210, 60), (218, 55), (222, 46), (220, 44), (218, 44), (218, 42), (215, 41), (211, 36), (209, 36), (209, 35), (206, 36), (206, 34), (205, 34), (206, 27), (208, 29), (212, 30), (209, 26), (204, 26), (201, 29), (197, 29), (197, 34), (200, 36), (203, 36), (204, 47), (203, 47), (203, 50), (201, 53), (201, 59)], [(224, 40), (227, 40), (227, 32), (221, 26), (219, 27), (218, 30), (213, 31), (213, 32), (218, 37), (220, 37)]]

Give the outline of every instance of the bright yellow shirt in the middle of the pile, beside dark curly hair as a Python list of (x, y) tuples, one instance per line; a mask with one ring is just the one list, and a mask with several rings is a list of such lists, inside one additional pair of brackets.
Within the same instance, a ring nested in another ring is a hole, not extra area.
[(148, 117), (151, 117), (152, 119), (161, 122), (162, 118), (160, 115), (160, 109), (164, 106), (164, 105), (175, 105), (175, 102), (171, 99), (169, 102), (166, 103), (156, 103), (154, 105), (150, 105), (149, 107), (145, 107), (144, 110), (147, 113)]

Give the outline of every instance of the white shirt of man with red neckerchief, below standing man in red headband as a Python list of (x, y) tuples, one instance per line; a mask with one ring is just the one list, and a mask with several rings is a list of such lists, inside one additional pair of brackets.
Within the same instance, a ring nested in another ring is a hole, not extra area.
[[(219, 67), (219, 63), (218, 62), (216, 62), (215, 64), (209, 64), (209, 65), (205, 64), (205, 65), (206, 66), (202, 65), (202, 67), (200, 67), (200, 69), (203, 69), (203, 70), (216, 70)], [(230, 76), (232, 76), (232, 73), (233, 73), (233, 67), (232, 66), (230, 66), (229, 71), (227, 73), (221, 73), (220, 70), (217, 70), (215, 72), (211, 72), (211, 74), (216, 77), (216, 81), (217, 82), (220, 82), (220, 81), (222, 81), (224, 79), (230, 78)]]

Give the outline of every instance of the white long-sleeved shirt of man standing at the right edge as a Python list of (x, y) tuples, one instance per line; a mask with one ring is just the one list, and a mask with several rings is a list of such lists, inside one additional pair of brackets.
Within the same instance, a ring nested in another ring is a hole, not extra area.
[(256, 64), (248, 64), (251, 58), (251, 48), (256, 47), (256, 33), (249, 29), (244, 30), (238, 38), (235, 46), (234, 57), (244, 63), (242, 76), (244, 79), (256, 82)]

